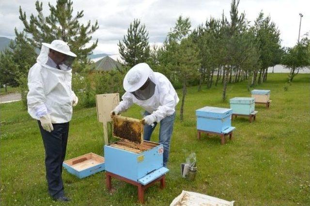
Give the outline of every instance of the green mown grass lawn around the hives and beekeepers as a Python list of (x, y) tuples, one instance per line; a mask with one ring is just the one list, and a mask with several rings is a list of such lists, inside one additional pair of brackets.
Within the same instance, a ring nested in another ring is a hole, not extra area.
[[(298, 74), (288, 91), (283, 86), (286, 74), (268, 74), (256, 88), (271, 89), (271, 107), (256, 106), (256, 122), (237, 118), (233, 141), (220, 145), (218, 136), (202, 135), (197, 140), (195, 110), (203, 106), (229, 107), (221, 102), (222, 86), (197, 91), (188, 88), (185, 120), (178, 115), (171, 140), (166, 188), (149, 188), (146, 205), (169, 205), (182, 190), (196, 191), (235, 205), (309, 205), (310, 204), (310, 75)], [(181, 90), (178, 90), (179, 96)], [(228, 86), (228, 98), (248, 97), (246, 82)], [(3, 205), (62, 205), (47, 194), (44, 147), (38, 125), (20, 103), (1, 104), (1, 201)], [(142, 109), (133, 106), (124, 116), (141, 118)], [(102, 125), (96, 109), (74, 110), (66, 159), (94, 152), (103, 153)], [(158, 140), (158, 128), (152, 136)], [(180, 177), (180, 163), (195, 152), (198, 173), (190, 182)], [(137, 188), (113, 180), (109, 193), (105, 173), (84, 179), (63, 171), (68, 205), (139, 205)], [(2, 204), (1, 204), (2, 205)]]

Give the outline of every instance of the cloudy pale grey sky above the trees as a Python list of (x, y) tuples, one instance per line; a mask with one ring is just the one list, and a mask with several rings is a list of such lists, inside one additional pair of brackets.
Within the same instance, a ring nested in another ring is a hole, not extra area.
[[(43, 1), (43, 13), (48, 15), (48, 1)], [(50, 0), (55, 4), (56, 0)], [(82, 22), (98, 20), (99, 29), (93, 34), (99, 44), (94, 54), (118, 53), (122, 39), (134, 18), (139, 18), (149, 31), (150, 43), (160, 44), (174, 26), (179, 15), (189, 17), (192, 27), (210, 16), (220, 17), (223, 10), (229, 16), (231, 0), (74, 0), (74, 14), (84, 10)], [(14, 38), (14, 28), (23, 29), (18, 19), (19, 6), (29, 17), (36, 15), (35, 0), (0, 0), (0, 36)], [(293, 46), (298, 39), (299, 13), (302, 13), (301, 31), (310, 31), (310, 0), (240, 0), (239, 11), (246, 13), (252, 23), (263, 10), (270, 15), (281, 32), (283, 46)], [(308, 12), (308, 13), (307, 13)]]

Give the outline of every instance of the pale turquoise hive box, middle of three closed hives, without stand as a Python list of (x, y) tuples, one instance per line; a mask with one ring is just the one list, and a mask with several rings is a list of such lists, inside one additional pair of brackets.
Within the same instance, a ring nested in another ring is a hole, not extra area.
[(255, 99), (251, 97), (235, 97), (229, 102), (233, 114), (249, 115), (255, 110)]

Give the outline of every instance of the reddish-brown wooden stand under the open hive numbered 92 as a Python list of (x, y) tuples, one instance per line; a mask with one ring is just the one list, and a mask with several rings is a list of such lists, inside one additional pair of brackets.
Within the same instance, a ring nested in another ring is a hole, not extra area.
[(152, 182), (148, 183), (147, 185), (142, 185), (141, 183), (139, 182), (136, 182), (136, 181), (133, 181), (133, 180), (130, 180), (130, 179), (127, 179), (125, 177), (121, 177), (121, 176), (118, 176), (118, 175), (115, 175), (113, 173), (110, 173), (110, 172), (106, 172), (106, 183), (107, 183), (107, 188), (109, 191), (111, 191), (112, 189), (112, 184), (111, 184), (111, 179), (112, 177), (116, 178), (116, 179), (119, 179), (121, 181), (124, 181), (124, 182), (127, 182), (129, 184), (132, 184), (132, 185), (135, 185), (135, 186), (138, 186), (138, 199), (139, 199), (139, 202), (141, 204), (144, 203), (144, 191), (154, 185), (156, 182), (160, 181), (160, 189), (164, 189), (165, 187), (165, 175), (161, 176), (161, 177), (158, 177), (157, 179), (153, 180)]

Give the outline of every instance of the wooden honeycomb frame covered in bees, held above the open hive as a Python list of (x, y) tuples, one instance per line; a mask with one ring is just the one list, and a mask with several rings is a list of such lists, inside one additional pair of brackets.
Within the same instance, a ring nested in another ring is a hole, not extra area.
[(114, 115), (113, 136), (138, 144), (143, 143), (142, 120)]

